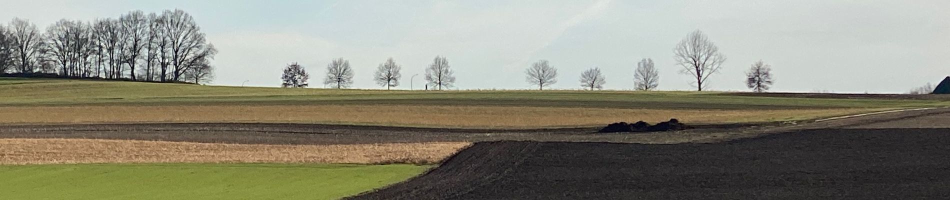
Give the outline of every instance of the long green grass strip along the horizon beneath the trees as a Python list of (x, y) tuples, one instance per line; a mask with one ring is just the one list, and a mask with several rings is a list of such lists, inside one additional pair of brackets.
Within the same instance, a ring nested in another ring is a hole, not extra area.
[(419, 104), (650, 109), (801, 109), (946, 106), (940, 100), (731, 96), (718, 92), (405, 91), (200, 86), (0, 78), (0, 105)]

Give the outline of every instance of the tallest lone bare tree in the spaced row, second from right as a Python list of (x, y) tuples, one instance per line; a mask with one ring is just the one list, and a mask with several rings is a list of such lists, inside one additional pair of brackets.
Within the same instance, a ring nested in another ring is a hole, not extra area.
[(692, 75), (697, 91), (703, 91), (706, 80), (719, 71), (726, 62), (726, 56), (719, 53), (709, 38), (700, 30), (686, 36), (674, 48), (676, 64), (683, 67), (681, 73)]

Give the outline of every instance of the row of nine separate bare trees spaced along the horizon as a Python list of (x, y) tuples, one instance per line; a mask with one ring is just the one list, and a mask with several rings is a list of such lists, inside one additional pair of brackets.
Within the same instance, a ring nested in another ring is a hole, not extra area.
[[(697, 91), (703, 91), (708, 86), (709, 77), (718, 73), (722, 64), (726, 62), (726, 56), (719, 52), (718, 46), (700, 30), (691, 32), (680, 41), (674, 48), (674, 55), (675, 64), (682, 67), (680, 73), (693, 78), (693, 85)], [(400, 70), (402, 66), (390, 58), (385, 63), (379, 64), (373, 77), (378, 85), (391, 89), (399, 86), (399, 80), (402, 78)], [(537, 86), (538, 90), (544, 90), (545, 87), (558, 82), (558, 69), (546, 60), (531, 64), (524, 73), (525, 81)], [(342, 58), (333, 60), (327, 65), (326, 74), (323, 82), (325, 85), (337, 89), (352, 85), (353, 70), (347, 60)], [(432, 64), (426, 68), (427, 89), (431, 87), (434, 90), (443, 90), (452, 87), (455, 83), (453, 74), (447, 59), (436, 56)], [(753, 92), (767, 92), (773, 83), (771, 66), (762, 61), (755, 62), (746, 72), (746, 78), (746, 85)], [(307, 87), (309, 79), (310, 75), (302, 66), (296, 63), (288, 64), (284, 67), (281, 86)], [(606, 82), (599, 67), (587, 69), (580, 74), (580, 86), (586, 90), (603, 89), (603, 84)], [(659, 71), (653, 59), (645, 58), (637, 63), (637, 68), (634, 70), (634, 84), (637, 90), (643, 91), (655, 90), (659, 86)]]

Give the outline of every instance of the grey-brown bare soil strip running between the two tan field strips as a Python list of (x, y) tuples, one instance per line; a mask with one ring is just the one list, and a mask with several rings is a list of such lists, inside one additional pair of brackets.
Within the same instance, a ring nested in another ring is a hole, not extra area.
[[(599, 127), (561, 129), (455, 129), (275, 123), (146, 123), (80, 125), (3, 125), (0, 138), (98, 138), (228, 144), (376, 144), (477, 142), (498, 140), (620, 142), (645, 144), (710, 143), (803, 129), (827, 129), (908, 118), (938, 118), (950, 109), (932, 109), (803, 124), (700, 125), (669, 133), (598, 134)], [(912, 122), (907, 122), (912, 123)], [(689, 122), (687, 122), (689, 125)]]

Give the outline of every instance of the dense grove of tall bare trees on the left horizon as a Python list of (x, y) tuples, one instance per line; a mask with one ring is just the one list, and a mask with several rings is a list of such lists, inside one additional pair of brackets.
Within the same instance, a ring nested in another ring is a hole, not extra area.
[(206, 83), (214, 79), (217, 53), (180, 9), (134, 10), (91, 22), (63, 19), (45, 32), (20, 18), (0, 25), (0, 74)]

